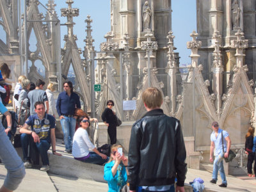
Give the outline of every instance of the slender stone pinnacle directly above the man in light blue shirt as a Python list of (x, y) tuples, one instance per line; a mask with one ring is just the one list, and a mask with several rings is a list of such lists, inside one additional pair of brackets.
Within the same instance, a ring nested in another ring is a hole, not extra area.
[(216, 95), (215, 100), (215, 107), (217, 109), (218, 117), (220, 119), (221, 115), (221, 95), (223, 93), (223, 64), (222, 64), (222, 58), (221, 58), (221, 51), (220, 51), (220, 39), (221, 35), (219, 35), (219, 31), (215, 31), (214, 35), (212, 36), (212, 39), (214, 39), (215, 45), (214, 45), (214, 51), (213, 51), (213, 82), (212, 82), (212, 90), (214, 94)]

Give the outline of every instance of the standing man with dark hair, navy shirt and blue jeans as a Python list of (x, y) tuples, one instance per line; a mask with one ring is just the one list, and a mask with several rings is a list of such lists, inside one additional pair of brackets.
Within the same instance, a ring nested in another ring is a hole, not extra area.
[(65, 153), (72, 153), (72, 140), (76, 131), (76, 118), (74, 113), (76, 108), (81, 108), (80, 99), (73, 91), (73, 84), (70, 81), (63, 83), (64, 92), (61, 92), (56, 109), (60, 116), (60, 123), (64, 134)]

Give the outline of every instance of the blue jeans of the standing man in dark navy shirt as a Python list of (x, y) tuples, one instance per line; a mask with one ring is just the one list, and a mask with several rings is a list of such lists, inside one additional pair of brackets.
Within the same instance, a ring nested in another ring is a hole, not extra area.
[(64, 143), (66, 150), (72, 150), (72, 141), (76, 131), (76, 118), (64, 116), (65, 118), (61, 118), (60, 124), (62, 127), (62, 131), (64, 134)]

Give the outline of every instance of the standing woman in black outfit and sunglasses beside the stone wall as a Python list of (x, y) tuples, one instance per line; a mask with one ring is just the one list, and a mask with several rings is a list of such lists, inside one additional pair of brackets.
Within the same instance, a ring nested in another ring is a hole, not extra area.
[(113, 145), (116, 143), (116, 117), (115, 112), (112, 111), (112, 108), (114, 106), (113, 100), (107, 101), (107, 108), (103, 111), (101, 118), (108, 126), (108, 135), (110, 138), (110, 144)]

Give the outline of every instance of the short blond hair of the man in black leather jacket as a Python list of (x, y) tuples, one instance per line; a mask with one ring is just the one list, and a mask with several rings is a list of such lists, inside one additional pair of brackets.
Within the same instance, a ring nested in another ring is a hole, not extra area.
[(155, 87), (149, 87), (142, 93), (142, 100), (147, 108), (160, 108), (163, 103), (162, 93)]

